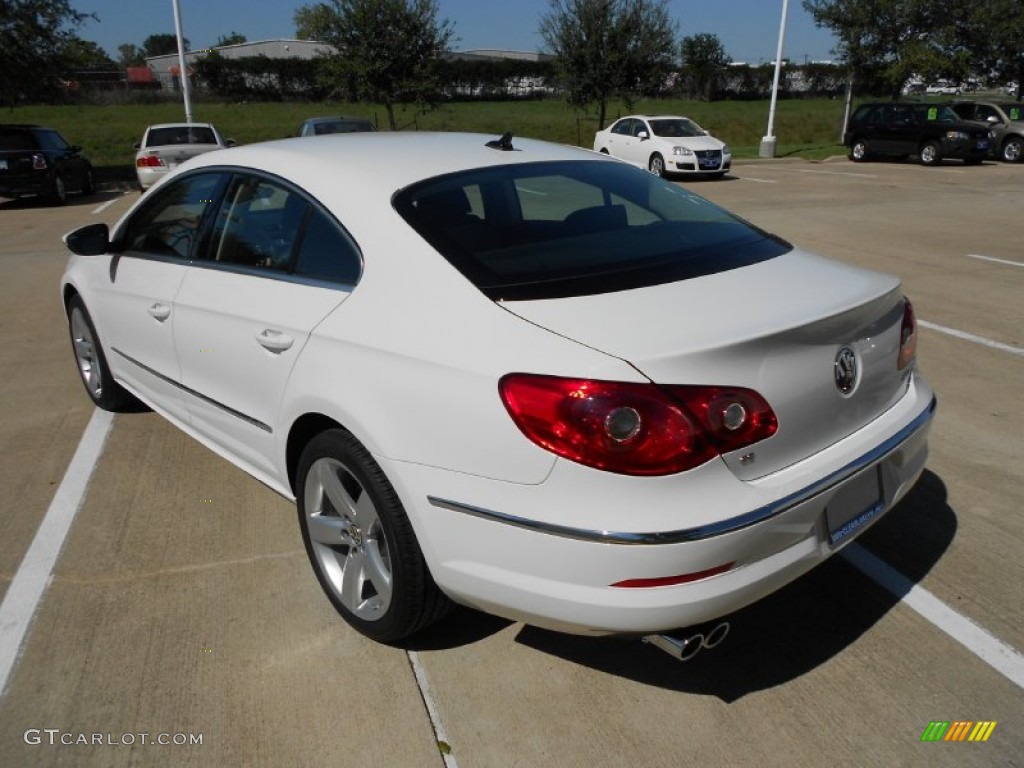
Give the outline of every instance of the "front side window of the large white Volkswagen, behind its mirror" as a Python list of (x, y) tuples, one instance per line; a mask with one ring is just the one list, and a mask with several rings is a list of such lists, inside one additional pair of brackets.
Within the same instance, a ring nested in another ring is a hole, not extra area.
[(203, 219), (223, 181), (220, 173), (200, 173), (155, 191), (117, 236), (122, 250), (193, 258)]

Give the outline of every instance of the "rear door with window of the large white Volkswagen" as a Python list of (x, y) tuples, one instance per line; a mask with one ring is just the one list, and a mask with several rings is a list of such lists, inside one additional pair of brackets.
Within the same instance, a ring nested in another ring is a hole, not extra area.
[(174, 335), (193, 428), (257, 476), (275, 476), (289, 376), (360, 263), (300, 190), (255, 173), (231, 178), (178, 291)]

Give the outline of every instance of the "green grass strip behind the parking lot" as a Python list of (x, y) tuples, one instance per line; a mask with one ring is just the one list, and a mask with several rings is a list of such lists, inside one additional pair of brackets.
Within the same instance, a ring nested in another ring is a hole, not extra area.
[[(626, 114), (687, 115), (727, 141), (738, 158), (755, 158), (768, 125), (768, 101), (640, 101), (632, 111), (612, 103), (608, 122)], [(212, 103), (193, 105), (193, 117), (210, 122), (239, 143), (292, 135), (299, 123), (315, 115), (360, 115), (386, 125), (384, 110), (370, 104), (338, 102)], [(133, 144), (153, 123), (184, 120), (180, 102), (156, 104), (23, 106), (0, 111), (0, 122), (40, 123), (56, 128), (81, 144), (100, 179), (133, 179)], [(398, 117), (404, 130), (478, 131), (500, 135), (512, 131), (561, 143), (593, 145), (597, 120), (557, 99), (539, 101), (455, 102), (423, 115)], [(818, 160), (845, 154), (840, 143), (843, 101), (780, 100), (775, 114), (776, 154)]]

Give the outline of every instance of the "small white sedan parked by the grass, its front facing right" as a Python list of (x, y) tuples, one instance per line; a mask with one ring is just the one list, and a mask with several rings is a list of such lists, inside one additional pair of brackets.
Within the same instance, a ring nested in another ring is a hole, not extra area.
[(689, 118), (631, 115), (594, 134), (594, 152), (611, 155), (657, 176), (725, 175), (732, 152)]

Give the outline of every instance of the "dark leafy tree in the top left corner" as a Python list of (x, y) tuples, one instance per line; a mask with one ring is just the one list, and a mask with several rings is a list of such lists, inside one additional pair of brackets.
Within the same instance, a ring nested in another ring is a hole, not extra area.
[(75, 30), (89, 17), (69, 0), (0, 0), (0, 102), (58, 97)]

